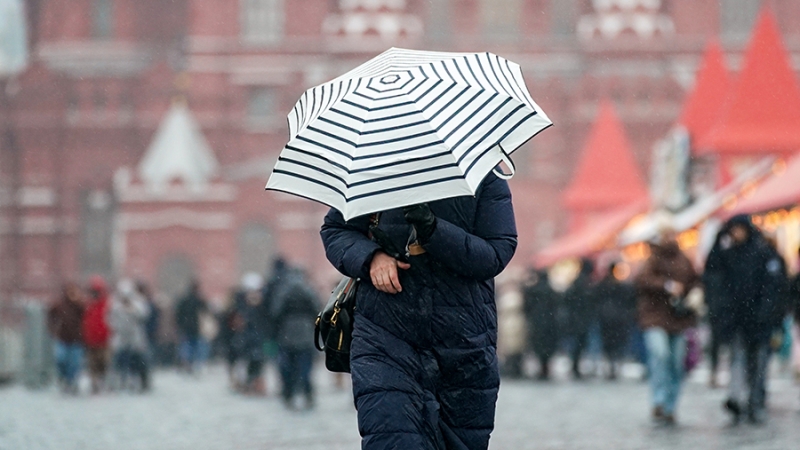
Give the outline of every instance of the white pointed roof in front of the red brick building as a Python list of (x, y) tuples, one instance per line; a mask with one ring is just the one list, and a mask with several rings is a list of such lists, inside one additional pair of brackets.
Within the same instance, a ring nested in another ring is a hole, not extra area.
[(218, 170), (214, 152), (186, 104), (173, 103), (139, 163), (139, 177), (156, 190), (174, 180), (198, 189), (208, 184)]

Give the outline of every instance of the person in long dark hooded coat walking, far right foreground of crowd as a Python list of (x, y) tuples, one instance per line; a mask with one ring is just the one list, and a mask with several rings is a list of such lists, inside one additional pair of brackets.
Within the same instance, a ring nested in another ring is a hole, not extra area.
[(765, 417), (766, 370), (773, 330), (788, 310), (786, 265), (750, 221), (731, 218), (706, 261), (709, 320), (721, 343), (731, 346), (731, 382), (725, 409), (738, 423), (745, 413)]

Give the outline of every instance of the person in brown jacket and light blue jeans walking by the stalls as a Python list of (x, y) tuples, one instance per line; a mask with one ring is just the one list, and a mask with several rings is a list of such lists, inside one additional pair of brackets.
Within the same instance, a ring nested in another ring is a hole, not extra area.
[(653, 419), (674, 425), (686, 358), (684, 331), (695, 324), (692, 314), (675, 307), (678, 299), (699, 286), (691, 261), (681, 252), (670, 229), (650, 244), (650, 257), (636, 277), (639, 324), (644, 330), (652, 390)]

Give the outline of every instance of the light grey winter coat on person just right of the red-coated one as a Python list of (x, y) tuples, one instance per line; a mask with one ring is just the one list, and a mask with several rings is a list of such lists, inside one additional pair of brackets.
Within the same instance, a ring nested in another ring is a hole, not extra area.
[(109, 311), (109, 325), (113, 331), (111, 348), (115, 351), (147, 350), (147, 330), (145, 323), (150, 314), (150, 306), (139, 295), (127, 296), (126, 304), (121, 297), (114, 298)]

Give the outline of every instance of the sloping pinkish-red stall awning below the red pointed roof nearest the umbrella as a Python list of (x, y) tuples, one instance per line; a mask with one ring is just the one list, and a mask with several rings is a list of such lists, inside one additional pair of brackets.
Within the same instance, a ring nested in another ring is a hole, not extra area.
[(550, 266), (562, 259), (587, 256), (603, 250), (609, 244), (613, 245), (617, 233), (636, 216), (646, 212), (648, 207), (649, 202), (643, 200), (603, 213), (583, 228), (558, 238), (537, 253), (534, 265)]

